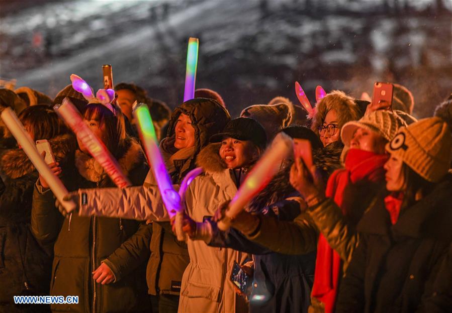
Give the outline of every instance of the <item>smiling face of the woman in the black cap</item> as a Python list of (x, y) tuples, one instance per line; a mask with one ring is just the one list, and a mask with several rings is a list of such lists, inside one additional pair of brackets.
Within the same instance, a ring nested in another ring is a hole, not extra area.
[(247, 166), (259, 156), (259, 149), (249, 140), (226, 138), (221, 142), (220, 157), (229, 169)]

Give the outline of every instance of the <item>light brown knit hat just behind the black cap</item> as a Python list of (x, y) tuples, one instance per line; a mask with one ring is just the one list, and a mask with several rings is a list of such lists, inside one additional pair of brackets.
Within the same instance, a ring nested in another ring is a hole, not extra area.
[(270, 142), (282, 128), (292, 122), (293, 108), (287, 103), (281, 102), (275, 105), (254, 105), (240, 113), (240, 117), (256, 120), (263, 126), (267, 141)]

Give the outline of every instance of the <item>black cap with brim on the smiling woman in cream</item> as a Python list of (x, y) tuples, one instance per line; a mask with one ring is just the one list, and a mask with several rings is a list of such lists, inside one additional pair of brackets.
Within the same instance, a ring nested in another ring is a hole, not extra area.
[(250, 118), (237, 118), (229, 121), (221, 133), (210, 137), (210, 142), (221, 142), (225, 138), (250, 140), (260, 148), (265, 148), (267, 142), (262, 125)]

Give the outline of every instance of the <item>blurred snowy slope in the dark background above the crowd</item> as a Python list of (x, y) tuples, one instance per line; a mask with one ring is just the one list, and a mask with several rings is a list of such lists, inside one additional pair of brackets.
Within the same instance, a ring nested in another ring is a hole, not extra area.
[(359, 96), (391, 80), (413, 91), (423, 117), (452, 92), (452, 14), (438, 3), (452, 10), (450, 0), (41, 1), (21, 10), (2, 0), (0, 77), (54, 96), (71, 73), (101, 87), (102, 64), (112, 64), (115, 83), (134, 81), (174, 107), (192, 36), (197, 87), (219, 91), (232, 115), (276, 95), (295, 102), (295, 80), (311, 99), (317, 84)]

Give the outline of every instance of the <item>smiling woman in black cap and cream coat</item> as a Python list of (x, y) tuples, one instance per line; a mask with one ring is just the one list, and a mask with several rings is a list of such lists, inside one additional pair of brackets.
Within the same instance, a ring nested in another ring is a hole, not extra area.
[[(204, 225), (203, 221), (215, 214), (219, 204), (232, 199), (265, 148), (266, 135), (255, 120), (237, 118), (212, 136), (210, 142), (197, 158), (205, 173), (195, 178), (187, 191), (185, 231), (187, 225)], [(234, 261), (243, 265), (249, 260), (248, 254), (209, 247), (204, 241), (192, 239), (188, 247), (190, 264), (184, 272), (178, 312), (248, 311), (244, 298), (236, 295), (229, 279)]]

